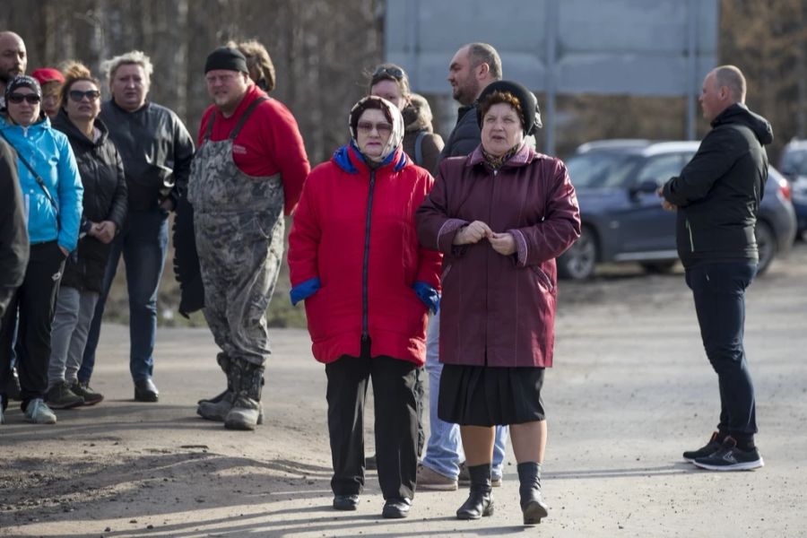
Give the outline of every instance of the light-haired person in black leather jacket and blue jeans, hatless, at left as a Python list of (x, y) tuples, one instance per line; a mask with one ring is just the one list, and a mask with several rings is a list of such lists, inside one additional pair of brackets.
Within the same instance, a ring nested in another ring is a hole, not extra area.
[[(100, 324), (120, 256), (126, 264), (129, 294), (129, 372), (134, 400), (157, 402), (152, 381), (157, 338), (157, 290), (168, 252), (169, 213), (186, 189), (194, 142), (182, 120), (169, 108), (147, 100), (152, 76), (149, 56), (139, 50), (101, 64), (108, 74), (112, 99), (101, 105), (100, 119), (120, 153), (126, 174), (128, 213), (121, 230), (105, 221), (115, 236), (101, 294), (84, 348), (79, 383), (90, 383)], [(106, 233), (105, 232), (105, 233)]]

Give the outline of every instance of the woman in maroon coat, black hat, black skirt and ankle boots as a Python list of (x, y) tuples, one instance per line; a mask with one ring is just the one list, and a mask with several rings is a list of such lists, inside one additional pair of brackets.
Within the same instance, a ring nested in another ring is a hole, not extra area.
[(566, 166), (524, 142), (541, 126), (537, 108), (515, 82), (485, 88), (477, 107), (482, 144), (440, 164), (417, 213), (421, 244), (444, 255), (438, 415), (460, 424), (471, 473), (459, 519), (493, 513), (498, 424), (510, 425), (525, 525), (547, 515), (541, 387), (552, 363), (555, 258), (579, 237), (580, 216)]

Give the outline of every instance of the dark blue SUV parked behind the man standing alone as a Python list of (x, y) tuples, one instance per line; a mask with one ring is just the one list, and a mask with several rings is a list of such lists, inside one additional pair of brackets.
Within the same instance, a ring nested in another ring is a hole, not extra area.
[[(681, 173), (698, 142), (605, 140), (585, 143), (566, 164), (577, 190), (583, 231), (558, 258), (562, 278), (584, 280), (598, 263), (634, 262), (646, 271), (678, 261), (675, 213), (664, 211), (656, 189)], [(793, 244), (796, 222), (788, 181), (773, 167), (757, 219), (759, 273)]]

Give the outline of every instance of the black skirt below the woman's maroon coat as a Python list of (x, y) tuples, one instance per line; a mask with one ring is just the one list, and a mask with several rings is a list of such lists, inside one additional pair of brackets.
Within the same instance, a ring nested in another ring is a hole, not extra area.
[(446, 364), (438, 417), (464, 426), (496, 426), (545, 419), (542, 368)]

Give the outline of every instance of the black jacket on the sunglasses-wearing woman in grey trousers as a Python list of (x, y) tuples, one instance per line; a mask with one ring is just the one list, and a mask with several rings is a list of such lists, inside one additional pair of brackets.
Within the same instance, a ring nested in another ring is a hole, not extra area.
[[(82, 225), (86, 221), (113, 221), (117, 230), (121, 230), (126, 220), (126, 178), (107, 126), (100, 119), (95, 120), (100, 136), (92, 142), (70, 121), (64, 109), (59, 110), (53, 126), (67, 135), (82, 177)], [(109, 247), (89, 235), (79, 239), (73, 256), (67, 259), (61, 285), (82, 291), (101, 291)]]

